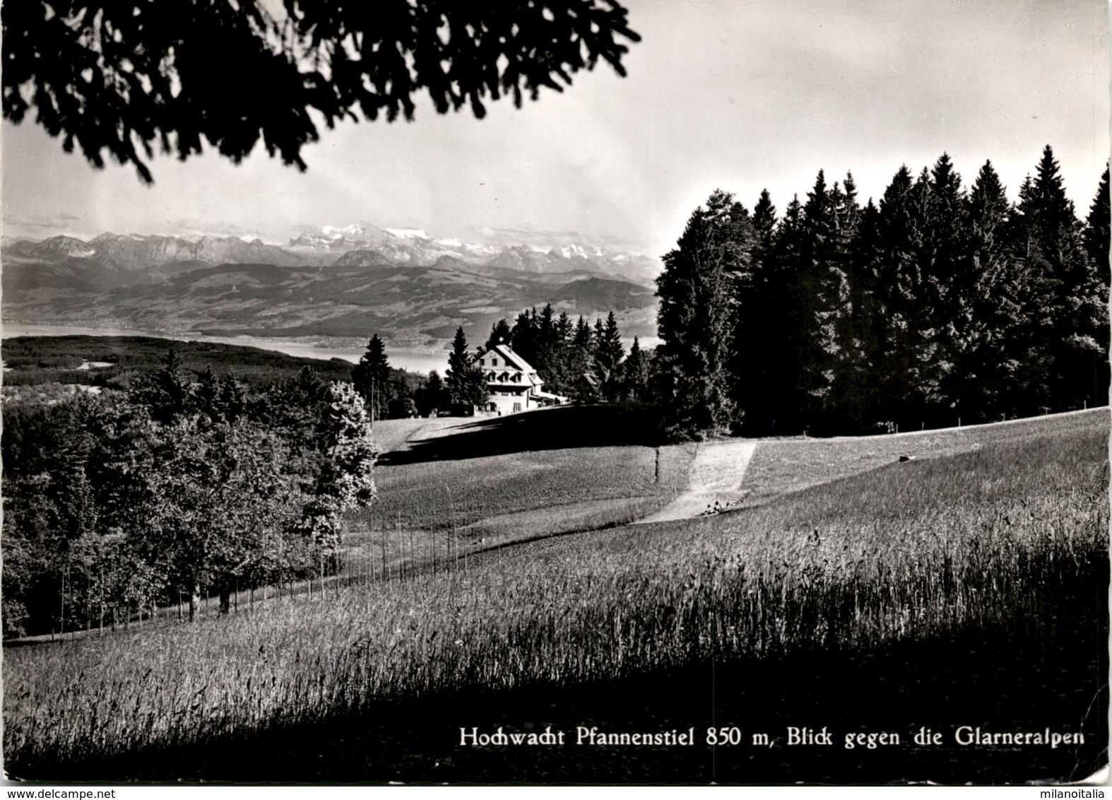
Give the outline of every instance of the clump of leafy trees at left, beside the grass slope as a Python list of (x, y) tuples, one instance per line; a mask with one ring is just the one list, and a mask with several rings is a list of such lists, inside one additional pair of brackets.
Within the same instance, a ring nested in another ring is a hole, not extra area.
[(250, 387), (170, 352), (127, 392), (4, 409), (3, 634), (116, 626), (159, 604), (338, 567), (374, 498), (350, 383), (310, 367)]

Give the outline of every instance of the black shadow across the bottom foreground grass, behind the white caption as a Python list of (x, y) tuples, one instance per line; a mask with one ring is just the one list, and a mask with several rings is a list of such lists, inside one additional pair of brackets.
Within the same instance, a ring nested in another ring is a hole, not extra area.
[[(1024, 783), (1106, 763), (1106, 570), (1030, 615), (864, 651), (706, 662), (617, 681), (378, 702), (254, 734), (214, 732), (82, 763), (11, 764), (53, 781), (407, 783)], [(461, 733), (564, 733), (563, 744), (461, 744)], [(686, 745), (592, 744), (580, 733), (687, 733)], [(707, 730), (733, 743), (712, 747)], [(461, 730), (463, 729), (463, 730)], [(736, 729), (734, 734), (731, 729)], [(792, 732), (796, 743), (792, 743)], [(915, 734), (941, 733), (937, 743)], [(973, 741), (1016, 731), (1083, 742)], [(867, 734), (888, 734), (886, 743)], [(846, 737), (855, 747), (846, 747)], [(892, 741), (892, 734), (898, 742)], [(767, 737), (764, 740), (762, 737)], [(828, 743), (823, 743), (827, 741)]]

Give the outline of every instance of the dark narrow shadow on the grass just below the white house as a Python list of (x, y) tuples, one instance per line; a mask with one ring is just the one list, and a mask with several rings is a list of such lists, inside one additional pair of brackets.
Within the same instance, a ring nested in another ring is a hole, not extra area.
[(562, 406), (477, 419), (460, 433), (410, 443), (383, 454), (383, 465), (458, 461), (507, 453), (574, 447), (662, 444), (655, 406), (614, 404)]

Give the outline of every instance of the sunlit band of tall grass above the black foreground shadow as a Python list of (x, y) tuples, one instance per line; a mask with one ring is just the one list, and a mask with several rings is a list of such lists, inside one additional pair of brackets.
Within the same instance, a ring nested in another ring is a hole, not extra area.
[(884, 646), (1006, 624), (1071, 581), (1092, 580), (1096, 597), (1106, 442), (1101, 424), (894, 464), (742, 513), (536, 542), (339, 600), (12, 650), (8, 769), (250, 735), (439, 691)]

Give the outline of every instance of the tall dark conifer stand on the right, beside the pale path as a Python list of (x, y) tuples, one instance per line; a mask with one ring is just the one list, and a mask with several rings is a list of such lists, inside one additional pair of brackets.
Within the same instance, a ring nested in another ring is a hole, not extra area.
[(657, 279), (674, 436), (919, 429), (1104, 405), (1109, 172), (1084, 221), (1050, 146), (1010, 203), (945, 154), (878, 203), (818, 172), (778, 214), (724, 191)]

